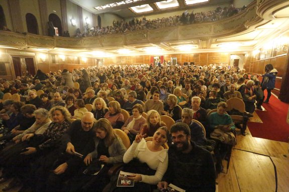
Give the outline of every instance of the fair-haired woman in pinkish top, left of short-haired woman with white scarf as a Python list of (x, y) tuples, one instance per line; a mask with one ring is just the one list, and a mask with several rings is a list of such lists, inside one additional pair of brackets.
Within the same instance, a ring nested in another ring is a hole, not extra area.
[(121, 129), (125, 122), (119, 102), (109, 102), (109, 111), (105, 114), (105, 118), (111, 122), (114, 129)]

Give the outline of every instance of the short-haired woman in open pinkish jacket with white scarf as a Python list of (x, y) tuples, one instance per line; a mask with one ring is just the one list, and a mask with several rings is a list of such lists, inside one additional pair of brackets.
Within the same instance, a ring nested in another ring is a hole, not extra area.
[(132, 116), (130, 116), (122, 127), (122, 130), (128, 135), (131, 143), (135, 137), (140, 133), (141, 126), (145, 124), (146, 119), (142, 116), (143, 106), (135, 104), (132, 108)]

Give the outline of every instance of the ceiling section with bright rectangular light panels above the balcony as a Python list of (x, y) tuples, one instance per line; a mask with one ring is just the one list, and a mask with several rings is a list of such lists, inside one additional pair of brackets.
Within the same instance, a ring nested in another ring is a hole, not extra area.
[[(231, 0), (69, 0), (93, 14), (113, 13), (128, 19), (146, 15), (229, 4)], [(240, 0), (242, 1), (242, 0)], [(253, 1), (253, 0), (252, 0)]]

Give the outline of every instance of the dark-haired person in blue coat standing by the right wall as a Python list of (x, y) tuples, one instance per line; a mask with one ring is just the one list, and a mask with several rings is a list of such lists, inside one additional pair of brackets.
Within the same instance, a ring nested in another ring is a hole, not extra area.
[[(269, 99), (271, 97), (271, 90), (274, 89), (275, 87), (275, 80), (276, 80), (276, 75), (277, 75), (277, 70), (273, 68), (272, 64), (267, 64), (265, 66), (265, 74), (262, 75), (262, 83), (261, 83), (261, 88), (262, 91), (267, 89), (267, 98), (264, 101), (264, 103), (269, 103)], [(265, 96), (263, 97), (265, 99)]]

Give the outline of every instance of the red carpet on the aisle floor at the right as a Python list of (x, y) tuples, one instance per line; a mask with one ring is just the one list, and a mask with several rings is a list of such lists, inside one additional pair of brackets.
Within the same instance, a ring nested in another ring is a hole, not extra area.
[[(264, 94), (267, 96), (266, 90)], [(252, 136), (288, 142), (289, 124), (286, 123), (288, 104), (272, 95), (270, 102), (263, 103), (262, 106), (267, 111), (256, 110), (256, 113), (263, 123), (248, 122), (247, 124)]]

